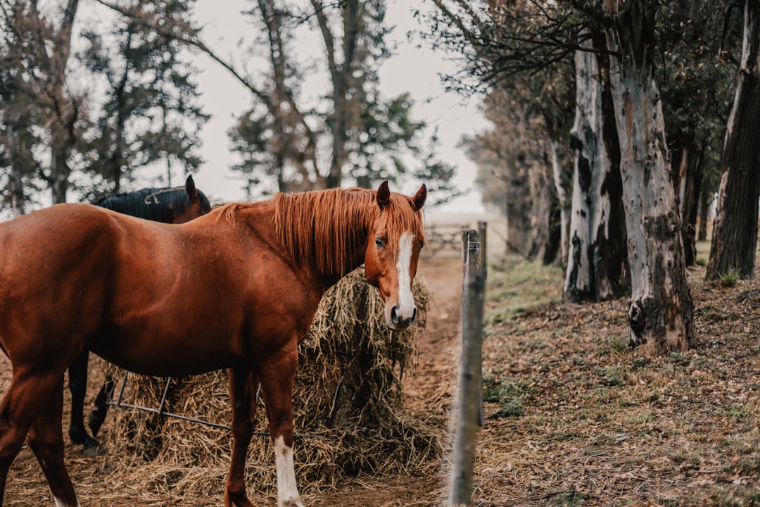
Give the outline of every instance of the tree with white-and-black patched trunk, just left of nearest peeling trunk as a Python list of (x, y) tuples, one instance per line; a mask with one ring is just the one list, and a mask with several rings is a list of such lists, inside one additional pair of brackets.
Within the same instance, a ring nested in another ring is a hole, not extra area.
[[(606, 48), (581, 46), (591, 40), (587, 30), (590, 22), (567, 6), (547, 8), (543, 2), (530, 0), (491, 2), (489, 16), (485, 16), (477, 8), (468, 8), (472, 2), (467, 7), (459, 2), (456, 11), (449, 7), (450, 3), (454, 2), (435, 0), (448, 23), (439, 21), (432, 27), (437, 40), (465, 55), (468, 74), (452, 74), (449, 79), (464, 83), (465, 90), (466, 86), (477, 89), (478, 83), (489, 86), (498, 81), (499, 87), (508, 87), (513, 95), (524, 97), (524, 103), (543, 104), (526, 106), (539, 109), (543, 120), (542, 132), (534, 135), (549, 138), (549, 153), (553, 155), (557, 153), (556, 147), (565, 145), (572, 147), (577, 156), (575, 186), (568, 184), (573, 179), (572, 166), (563, 167), (559, 157), (553, 157), (552, 163), (556, 195), (563, 212), (565, 295), (575, 300), (622, 295), (628, 287), (625, 224), (619, 208), (618, 164), (608, 160), (616, 154), (613, 146), (616, 138), (614, 126), (613, 132), (609, 132), (609, 125), (614, 122), (609, 117), (603, 119), (600, 109), (604, 97), (604, 104), (611, 111), (611, 99), (609, 92), (602, 93), (606, 89), (600, 83), (599, 71), (584, 71), (582, 82), (572, 75), (576, 52), (604, 53)], [(601, 33), (598, 27), (596, 33)], [(599, 65), (594, 62), (594, 67)], [(593, 89), (578, 89), (590, 83), (590, 79), (594, 80)], [(476, 84), (469, 84), (471, 80)], [(576, 106), (574, 93), (581, 97), (590, 94), (589, 102)], [(592, 104), (597, 106), (596, 112), (587, 109)], [(571, 132), (574, 107), (576, 127)], [(591, 116), (594, 119), (587, 121)], [(597, 160), (600, 163), (606, 160), (606, 168), (594, 163)]]

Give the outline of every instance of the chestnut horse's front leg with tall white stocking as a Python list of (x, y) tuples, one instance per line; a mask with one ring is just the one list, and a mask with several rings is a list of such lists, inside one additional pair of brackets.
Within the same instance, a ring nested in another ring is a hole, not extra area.
[(277, 464), (277, 506), (303, 507), (293, 467), (293, 377), (298, 348), (293, 347), (261, 366), (261, 392), (267, 406), (269, 434)]

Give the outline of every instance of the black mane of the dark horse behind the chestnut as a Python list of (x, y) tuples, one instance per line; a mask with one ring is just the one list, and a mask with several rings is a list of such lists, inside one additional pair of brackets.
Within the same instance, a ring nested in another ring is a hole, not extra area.
[[(208, 201), (203, 192), (200, 190), (197, 192), (201, 201)], [(173, 219), (173, 213), (182, 210), (187, 200), (187, 190), (182, 186), (165, 189), (141, 189), (135, 192), (109, 195), (94, 201), (93, 204), (132, 217), (166, 222)]]

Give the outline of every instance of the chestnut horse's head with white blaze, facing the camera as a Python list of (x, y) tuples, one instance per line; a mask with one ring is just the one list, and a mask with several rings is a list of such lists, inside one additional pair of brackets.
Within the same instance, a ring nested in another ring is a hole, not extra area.
[(408, 328), (416, 316), (412, 280), (423, 247), (422, 208), (425, 185), (412, 198), (391, 194), (382, 182), (375, 201), (379, 212), (369, 230), (364, 265), (370, 284), (385, 301), (385, 322), (395, 331)]

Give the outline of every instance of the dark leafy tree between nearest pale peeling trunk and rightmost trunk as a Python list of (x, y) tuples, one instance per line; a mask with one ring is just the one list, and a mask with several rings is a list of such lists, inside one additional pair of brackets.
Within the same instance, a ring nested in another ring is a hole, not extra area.
[[(696, 227), (702, 194), (717, 191), (710, 173), (719, 170), (726, 122), (735, 87), (735, 67), (726, 58), (740, 33), (727, 33), (720, 51), (721, 2), (676, 0), (660, 4), (662, 65), (657, 75), (665, 128), (676, 176), (686, 265), (696, 256)], [(720, 58), (716, 59), (716, 56)]]

